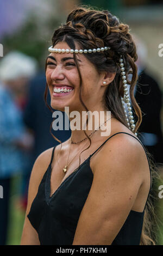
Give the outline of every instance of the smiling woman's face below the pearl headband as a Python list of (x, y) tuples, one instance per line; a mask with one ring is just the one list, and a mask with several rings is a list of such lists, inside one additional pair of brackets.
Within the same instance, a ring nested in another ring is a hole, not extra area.
[[(58, 42), (55, 48), (70, 49), (66, 42)], [(76, 48), (80, 49), (77, 45)], [(82, 99), (88, 109), (97, 109), (105, 89), (102, 75), (98, 74), (95, 66), (86, 59), (84, 54), (78, 53), (76, 57), (82, 75)], [(79, 99), (80, 79), (72, 53), (49, 54), (46, 80), (53, 109), (64, 111), (67, 106), (69, 111), (85, 111)]]

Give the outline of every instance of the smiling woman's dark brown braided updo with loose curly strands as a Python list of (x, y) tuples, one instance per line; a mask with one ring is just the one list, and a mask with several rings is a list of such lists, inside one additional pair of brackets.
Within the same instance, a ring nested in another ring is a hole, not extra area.
[[(87, 53), (85, 54), (85, 57), (95, 66), (99, 74), (101, 73), (101, 71), (116, 73), (114, 80), (109, 84), (108, 88), (105, 90), (102, 103), (104, 109), (109, 109), (112, 115), (117, 120), (119, 120), (122, 124), (128, 127), (126, 113), (124, 113), (124, 108), (121, 101), (121, 97), (123, 97), (124, 93), (124, 88), (121, 79), (121, 68), (119, 65), (119, 59), (120, 56), (122, 56), (124, 60), (126, 76), (128, 77), (128, 74), (132, 74), (131, 81), (127, 79), (127, 83), (130, 84), (130, 99), (131, 104), (133, 106), (133, 112), (135, 115), (134, 118), (136, 119), (134, 133), (139, 132), (138, 129), (142, 121), (142, 114), (141, 109), (134, 97), (134, 87), (137, 82), (137, 66), (135, 64), (135, 61), (137, 60), (137, 54), (135, 43), (133, 41), (131, 34), (129, 33), (129, 26), (120, 23), (117, 17), (112, 16), (108, 10), (101, 11), (92, 9), (90, 7), (78, 7), (72, 10), (71, 13), (68, 15), (66, 23), (55, 30), (52, 36), (53, 47), (60, 41), (66, 42), (67, 45), (70, 46), (70, 48), (72, 49), (76, 48), (75, 44), (78, 44), (83, 50), (85, 48), (93, 49), (105, 46), (110, 47), (109, 51), (98, 52), (93, 54)], [(80, 77), (80, 101), (83, 103), (83, 106), (85, 107), (86, 111), (89, 111), (89, 109), (87, 109), (85, 103), (82, 100), (82, 75), (80, 74), (76, 54), (73, 53), (73, 55)], [(47, 92), (48, 86), (46, 84), (46, 104)], [(51, 109), (50, 106), (48, 107), (49, 109)], [(91, 138), (89, 137), (89, 135), (86, 134), (85, 131), (84, 133), (86, 137), (89, 139), (91, 145)], [(55, 139), (57, 139), (54, 135), (52, 136)], [(57, 141), (60, 142), (58, 139)], [(148, 153), (148, 151), (147, 154), (148, 159), (151, 163), (151, 170), (153, 170), (152, 173), (154, 177), (154, 175), (156, 175), (156, 171), (153, 167), (153, 157), (151, 154)], [(153, 216), (154, 218), (152, 212), (153, 206), (150, 203), (149, 197), (145, 209), (140, 245), (154, 244), (151, 231), (151, 216)]]

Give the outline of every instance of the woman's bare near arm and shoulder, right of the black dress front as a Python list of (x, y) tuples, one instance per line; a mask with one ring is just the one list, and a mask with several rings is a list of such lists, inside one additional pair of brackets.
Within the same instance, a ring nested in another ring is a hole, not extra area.
[(79, 217), (73, 245), (111, 245), (122, 228), (147, 166), (145, 151), (135, 141), (119, 135), (105, 144), (96, 157), (92, 187)]

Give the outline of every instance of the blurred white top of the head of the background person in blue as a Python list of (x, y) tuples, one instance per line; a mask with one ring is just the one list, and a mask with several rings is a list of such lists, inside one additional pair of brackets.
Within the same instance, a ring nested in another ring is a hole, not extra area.
[(12, 51), (1, 58), (0, 80), (15, 80), (20, 77), (30, 78), (36, 74), (37, 61), (21, 52)]

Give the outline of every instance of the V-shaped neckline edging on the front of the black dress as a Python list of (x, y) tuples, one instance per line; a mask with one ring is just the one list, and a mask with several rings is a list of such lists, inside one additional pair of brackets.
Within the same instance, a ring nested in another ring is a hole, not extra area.
[[(55, 153), (55, 148), (54, 148), (54, 153)], [(57, 192), (60, 190), (60, 188), (72, 177), (72, 175), (73, 175), (74, 173), (77, 173), (77, 172), (80, 170), (80, 168), (83, 166), (83, 164), (90, 160), (90, 157), (91, 157), (91, 155), (90, 155), (89, 157), (87, 157), (87, 159), (84, 160), (83, 163), (81, 163), (80, 166), (79, 166), (77, 169), (75, 169), (70, 175), (68, 175), (67, 178), (64, 179), (64, 180), (61, 182), (61, 184), (59, 185), (59, 187), (57, 188), (57, 190), (55, 190), (55, 191), (52, 193), (52, 195), (51, 195), (52, 165), (49, 166), (49, 168), (48, 168), (48, 173), (47, 173), (47, 177), (46, 177), (46, 185), (47, 185), (47, 186), (45, 187), (45, 189), (46, 189), (46, 198), (47, 198), (47, 201), (48, 201), (48, 202), (51, 201), (52, 198), (55, 197), (55, 194), (57, 194)]]

